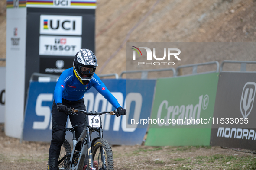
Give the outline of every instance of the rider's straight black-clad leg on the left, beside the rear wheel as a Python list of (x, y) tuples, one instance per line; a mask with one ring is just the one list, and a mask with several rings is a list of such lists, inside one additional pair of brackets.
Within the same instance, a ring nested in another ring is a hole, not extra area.
[(52, 104), (52, 141), (49, 149), (49, 170), (58, 170), (58, 157), (66, 135), (67, 114), (59, 112), (55, 101)]

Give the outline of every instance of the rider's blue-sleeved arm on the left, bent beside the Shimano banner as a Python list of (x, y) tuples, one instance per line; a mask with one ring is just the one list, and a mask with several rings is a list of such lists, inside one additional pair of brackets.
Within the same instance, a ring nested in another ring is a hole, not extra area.
[(68, 80), (71, 80), (71, 76), (72, 76), (71, 75), (72, 73), (70, 73), (70, 71), (68, 70), (69, 69), (62, 72), (55, 86), (54, 95), (53, 95), (55, 103), (62, 103), (62, 93), (65, 90)]

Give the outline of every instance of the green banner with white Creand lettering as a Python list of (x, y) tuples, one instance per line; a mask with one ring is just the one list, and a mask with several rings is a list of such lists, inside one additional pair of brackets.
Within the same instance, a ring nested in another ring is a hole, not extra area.
[(158, 79), (145, 145), (210, 145), (218, 76)]

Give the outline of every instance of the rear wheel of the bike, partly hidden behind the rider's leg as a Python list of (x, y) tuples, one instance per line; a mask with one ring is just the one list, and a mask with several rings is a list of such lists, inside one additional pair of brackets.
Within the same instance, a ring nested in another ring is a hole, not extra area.
[[(71, 151), (70, 144), (65, 139), (61, 147), (60, 155), (58, 157), (58, 170), (69, 170), (69, 159), (70, 159), (71, 152), (72, 151)], [(48, 160), (47, 168), (49, 170), (49, 160)]]

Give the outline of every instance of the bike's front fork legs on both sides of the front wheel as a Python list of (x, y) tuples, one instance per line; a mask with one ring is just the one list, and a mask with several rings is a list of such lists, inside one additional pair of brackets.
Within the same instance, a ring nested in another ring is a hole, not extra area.
[[(102, 128), (100, 127), (100, 138), (103, 138), (103, 134), (102, 134)], [(86, 137), (87, 137), (87, 147), (88, 147), (88, 163), (89, 163), (89, 170), (93, 170), (93, 155), (92, 155), (92, 148), (91, 148), (91, 139), (90, 139), (90, 130), (89, 128), (86, 128)], [(105, 151), (103, 147), (100, 147), (100, 154), (101, 154), (101, 161), (102, 161), (102, 165), (106, 164), (106, 160), (105, 160)]]

